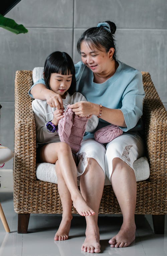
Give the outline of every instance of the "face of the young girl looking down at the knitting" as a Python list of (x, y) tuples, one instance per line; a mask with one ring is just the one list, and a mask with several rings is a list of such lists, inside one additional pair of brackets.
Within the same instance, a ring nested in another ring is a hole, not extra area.
[(66, 91), (69, 89), (72, 82), (72, 75), (61, 75), (57, 73), (52, 73), (50, 76), (50, 88), (52, 91), (61, 95), (62, 98), (65, 98)]

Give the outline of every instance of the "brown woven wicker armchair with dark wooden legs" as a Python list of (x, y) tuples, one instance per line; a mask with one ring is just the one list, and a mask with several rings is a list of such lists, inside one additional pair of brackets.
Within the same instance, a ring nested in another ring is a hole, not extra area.
[[(148, 72), (142, 72), (146, 96), (143, 120), (150, 177), (137, 182), (136, 214), (152, 214), (154, 232), (164, 233), (166, 214), (167, 113)], [(30, 213), (62, 213), (57, 184), (36, 178), (35, 119), (28, 90), (32, 71), (17, 71), (15, 77), (14, 210), (18, 233), (27, 233)], [(73, 213), (76, 213), (73, 208)], [(99, 213), (120, 214), (111, 185), (104, 187)]]

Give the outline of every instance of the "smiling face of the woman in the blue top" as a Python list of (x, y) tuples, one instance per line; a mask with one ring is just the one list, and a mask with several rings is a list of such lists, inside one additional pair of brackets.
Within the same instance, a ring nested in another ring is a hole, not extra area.
[(106, 74), (110, 70), (110, 63), (113, 60), (114, 48), (108, 52), (102, 47), (100, 50), (88, 45), (85, 41), (80, 44), (81, 60), (92, 70), (93, 73)]

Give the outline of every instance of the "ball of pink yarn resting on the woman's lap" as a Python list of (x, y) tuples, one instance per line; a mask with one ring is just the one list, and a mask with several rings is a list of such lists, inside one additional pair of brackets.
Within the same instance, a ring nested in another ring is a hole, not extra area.
[(123, 134), (123, 131), (117, 125), (107, 125), (95, 132), (94, 138), (101, 143), (107, 143)]

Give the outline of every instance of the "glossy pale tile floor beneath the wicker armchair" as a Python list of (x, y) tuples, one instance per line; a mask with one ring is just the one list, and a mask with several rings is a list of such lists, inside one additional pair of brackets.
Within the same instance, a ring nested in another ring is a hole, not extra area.
[[(10, 233), (6, 233), (0, 221), (0, 256), (80, 256), (90, 255), (80, 247), (85, 239), (85, 219), (75, 215), (70, 239), (54, 241), (54, 233), (61, 220), (60, 215), (31, 214), (27, 234), (17, 233), (17, 214), (13, 210), (12, 171), (0, 170), (0, 202)], [(136, 216), (136, 240), (127, 248), (110, 248), (108, 240), (119, 231), (121, 215), (99, 216), (101, 253), (112, 256), (167, 256), (167, 221), (165, 236), (153, 232), (152, 216)]]

